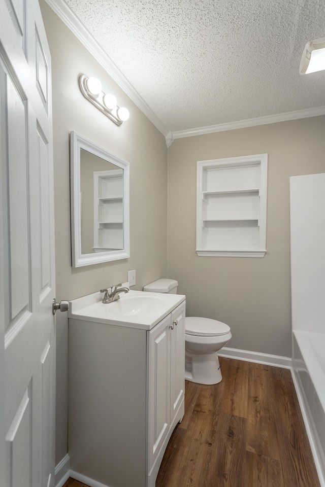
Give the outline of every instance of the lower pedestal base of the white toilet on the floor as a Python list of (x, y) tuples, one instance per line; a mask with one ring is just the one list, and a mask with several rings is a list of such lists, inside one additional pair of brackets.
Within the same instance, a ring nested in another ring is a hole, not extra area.
[(209, 386), (218, 384), (222, 375), (217, 353), (189, 354), (185, 351), (185, 379)]

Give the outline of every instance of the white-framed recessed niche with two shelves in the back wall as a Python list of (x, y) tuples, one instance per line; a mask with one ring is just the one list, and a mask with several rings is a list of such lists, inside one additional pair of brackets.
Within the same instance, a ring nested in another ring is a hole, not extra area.
[(199, 161), (197, 254), (264, 257), (267, 154)]

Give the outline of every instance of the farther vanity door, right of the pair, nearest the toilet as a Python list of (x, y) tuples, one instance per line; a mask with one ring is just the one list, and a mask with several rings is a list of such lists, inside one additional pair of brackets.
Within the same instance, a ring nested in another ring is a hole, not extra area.
[(171, 331), (171, 423), (184, 398), (185, 302), (172, 311)]

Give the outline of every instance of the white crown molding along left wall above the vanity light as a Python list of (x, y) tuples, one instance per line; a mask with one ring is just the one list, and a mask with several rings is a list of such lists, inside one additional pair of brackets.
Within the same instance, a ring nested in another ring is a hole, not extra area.
[(153, 125), (165, 137), (168, 136), (169, 131), (160, 122), (158, 117), (153, 113), (151, 108), (147, 105), (144, 99), (139, 95), (137, 90), (125, 78), (123, 73), (118, 69), (116, 64), (107, 55), (100, 44), (88, 32), (83, 23), (68, 7), (64, 0), (45, 0), (47, 5), (56, 13), (56, 15), (69, 27), (75, 34), (77, 39), (85, 46), (90, 54), (101, 64), (107, 73), (113, 78), (115, 83), (127, 94), (127, 96), (135, 103), (135, 105), (144, 113), (144, 115), (153, 123)]

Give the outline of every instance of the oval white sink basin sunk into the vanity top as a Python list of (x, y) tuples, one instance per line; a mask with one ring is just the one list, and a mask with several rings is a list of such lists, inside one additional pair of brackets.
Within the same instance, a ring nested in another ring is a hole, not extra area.
[(98, 303), (94, 308), (94, 311), (104, 317), (122, 317), (122, 316), (135, 316), (135, 315), (151, 315), (152, 313), (159, 311), (166, 305), (166, 301), (161, 299), (160, 296), (142, 293), (133, 295), (127, 293), (120, 295), (118, 301), (113, 303), (103, 304)]

